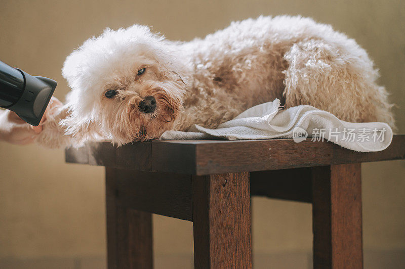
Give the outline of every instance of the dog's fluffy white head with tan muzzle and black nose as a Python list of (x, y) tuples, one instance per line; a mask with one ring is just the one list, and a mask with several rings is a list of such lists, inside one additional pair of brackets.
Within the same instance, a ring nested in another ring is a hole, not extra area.
[(134, 25), (88, 39), (66, 58), (67, 133), (98, 133), (118, 145), (158, 138), (182, 108), (184, 65), (175, 46)]

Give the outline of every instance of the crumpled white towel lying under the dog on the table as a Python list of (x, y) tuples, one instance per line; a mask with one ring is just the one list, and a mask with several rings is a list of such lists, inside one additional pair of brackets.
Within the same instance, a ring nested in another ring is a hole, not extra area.
[(346, 122), (307, 105), (282, 110), (280, 100), (275, 99), (242, 112), (217, 129), (194, 124), (187, 132), (166, 131), (160, 140), (293, 138), (299, 143), (307, 136), (312, 141), (325, 139), (354, 151), (369, 152), (386, 149), (391, 144), (392, 129), (383, 122)]

